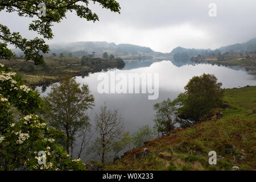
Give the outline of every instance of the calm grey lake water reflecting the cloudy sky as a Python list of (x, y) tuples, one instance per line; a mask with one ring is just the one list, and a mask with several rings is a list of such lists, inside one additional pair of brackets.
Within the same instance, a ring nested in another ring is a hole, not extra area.
[[(194, 64), (194, 65), (193, 65)], [(179, 93), (184, 92), (184, 86), (193, 76), (200, 76), (203, 73), (214, 74), (218, 82), (222, 82), (222, 88), (233, 88), (246, 85), (256, 85), (255, 76), (250, 75), (244, 68), (224, 67), (211, 64), (195, 64), (191, 61), (187, 63), (176, 63), (175, 61), (126, 61), (123, 69), (110, 69), (102, 71), (110, 75), (110, 72), (124, 73), (159, 73), (159, 97), (157, 100), (148, 100), (148, 94), (100, 94), (97, 86), (100, 73), (91, 73), (87, 77), (76, 77), (76, 81), (81, 84), (88, 84), (90, 91), (95, 98), (93, 110), (89, 110), (90, 122), (94, 125), (95, 113), (100, 111), (100, 106), (106, 103), (108, 109), (118, 109), (125, 122), (125, 130), (130, 133), (137, 131), (139, 126), (154, 126), (153, 105), (166, 98), (174, 99)], [(48, 86), (42, 93), (42, 87), (36, 89), (45, 96), (50, 90)]]

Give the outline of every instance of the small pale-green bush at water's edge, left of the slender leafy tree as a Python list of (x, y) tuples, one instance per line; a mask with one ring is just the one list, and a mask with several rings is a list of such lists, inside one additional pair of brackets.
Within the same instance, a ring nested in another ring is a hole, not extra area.
[(155, 138), (154, 131), (148, 126), (141, 126), (136, 133), (133, 133), (133, 144), (135, 147), (143, 146), (144, 142)]

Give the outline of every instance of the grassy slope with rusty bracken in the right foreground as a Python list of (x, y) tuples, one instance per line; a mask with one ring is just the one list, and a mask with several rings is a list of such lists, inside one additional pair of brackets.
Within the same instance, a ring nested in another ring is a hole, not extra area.
[[(176, 129), (175, 134), (134, 148), (104, 169), (212, 171), (232, 170), (233, 166), (238, 166), (241, 170), (255, 170), (256, 115), (253, 111), (256, 110), (256, 86), (225, 89), (224, 101), (230, 106), (222, 109), (221, 119)], [(134, 159), (143, 148), (151, 151), (150, 156)], [(217, 165), (209, 165), (209, 151), (217, 152)]]

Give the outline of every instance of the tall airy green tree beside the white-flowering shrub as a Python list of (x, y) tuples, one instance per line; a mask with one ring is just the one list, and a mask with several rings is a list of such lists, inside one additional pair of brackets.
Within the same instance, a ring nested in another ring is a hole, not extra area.
[(64, 144), (72, 158), (76, 138), (90, 128), (85, 111), (94, 106), (94, 97), (90, 94), (88, 85), (80, 88), (75, 78), (65, 76), (59, 85), (52, 86), (44, 101), (46, 106), (43, 115), (51, 126), (65, 132), (67, 139)]

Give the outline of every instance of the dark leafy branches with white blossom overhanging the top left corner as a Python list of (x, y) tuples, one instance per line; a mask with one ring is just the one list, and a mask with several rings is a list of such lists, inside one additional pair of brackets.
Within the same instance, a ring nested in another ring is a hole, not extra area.
[[(98, 2), (103, 8), (109, 9), (120, 13), (119, 3), (114, 0), (70, 0), (70, 1), (12, 1), (5, 0), (0, 1), (0, 11), (7, 11), (8, 13), (17, 13), (19, 16), (28, 16), (33, 18), (32, 23), (29, 25), (29, 30), (38, 32), (45, 39), (52, 39), (51, 26), (54, 23), (59, 23), (65, 18), (69, 11), (75, 11), (76, 15), (80, 18), (85, 18), (88, 21), (96, 22), (99, 20), (98, 15), (90, 10), (89, 2)], [(12, 32), (7, 26), (0, 24), (0, 55), (2, 59), (10, 59), (14, 57), (14, 53), (7, 48), (8, 44), (13, 44), (16, 48), (19, 48), (24, 52), (26, 60), (33, 60), (36, 65), (43, 64), (43, 55), (40, 52), (47, 53), (49, 46), (45, 44), (43, 39), (35, 38), (27, 40), (22, 38), (19, 32)]]

